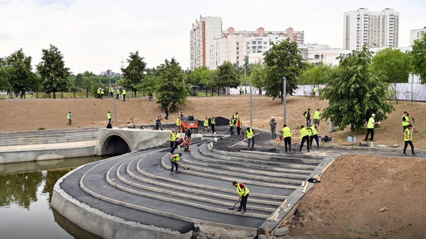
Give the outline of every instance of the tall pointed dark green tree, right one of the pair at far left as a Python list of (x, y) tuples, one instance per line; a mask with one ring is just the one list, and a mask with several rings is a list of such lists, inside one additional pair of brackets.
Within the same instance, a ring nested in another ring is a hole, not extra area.
[(69, 68), (65, 67), (64, 56), (61, 51), (50, 44), (50, 49), (42, 50), (42, 61), (37, 65), (37, 72), (42, 78), (42, 85), (46, 93), (68, 91), (71, 86)]

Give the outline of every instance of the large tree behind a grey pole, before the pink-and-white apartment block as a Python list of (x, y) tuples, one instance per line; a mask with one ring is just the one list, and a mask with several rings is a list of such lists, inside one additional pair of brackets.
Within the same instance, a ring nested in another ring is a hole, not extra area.
[(264, 55), (265, 62), (265, 91), (272, 99), (281, 98), (283, 101), (283, 80), (286, 78), (286, 92), (292, 94), (297, 88), (297, 77), (305, 67), (297, 43), (289, 38), (273, 45)]

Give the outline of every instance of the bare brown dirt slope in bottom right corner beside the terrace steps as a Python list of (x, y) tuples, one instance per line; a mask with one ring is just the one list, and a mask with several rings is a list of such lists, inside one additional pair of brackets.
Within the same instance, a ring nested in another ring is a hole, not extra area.
[(424, 238), (425, 170), (423, 159), (340, 157), (299, 203), (292, 238)]

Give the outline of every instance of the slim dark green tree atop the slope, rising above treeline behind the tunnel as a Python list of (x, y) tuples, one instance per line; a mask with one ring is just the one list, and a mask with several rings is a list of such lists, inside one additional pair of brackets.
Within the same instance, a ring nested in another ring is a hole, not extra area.
[(122, 68), (123, 80), (121, 84), (127, 88), (127, 90), (134, 92), (136, 95), (137, 85), (141, 82), (144, 77), (146, 63), (143, 57), (139, 56), (139, 51), (135, 53), (130, 52), (130, 56), (127, 59), (129, 65), (126, 68)]

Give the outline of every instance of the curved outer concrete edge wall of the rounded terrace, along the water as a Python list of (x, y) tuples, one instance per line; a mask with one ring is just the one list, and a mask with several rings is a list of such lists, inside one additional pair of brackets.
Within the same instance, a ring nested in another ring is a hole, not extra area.
[[(117, 157), (106, 159), (109, 161)], [(63, 215), (66, 219), (85, 230), (99, 235), (103, 238), (170, 238), (170, 236), (187, 239), (192, 236), (192, 231), (181, 234), (178, 231), (172, 231), (166, 228), (155, 227), (152, 225), (144, 225), (140, 223), (126, 221), (98, 209), (92, 208), (73, 197), (61, 188), (61, 183), (71, 173), (81, 168), (99, 162), (93, 162), (82, 165), (60, 178), (53, 187), (53, 196), (51, 206)], [(82, 216), (84, 215), (84, 216)]]

